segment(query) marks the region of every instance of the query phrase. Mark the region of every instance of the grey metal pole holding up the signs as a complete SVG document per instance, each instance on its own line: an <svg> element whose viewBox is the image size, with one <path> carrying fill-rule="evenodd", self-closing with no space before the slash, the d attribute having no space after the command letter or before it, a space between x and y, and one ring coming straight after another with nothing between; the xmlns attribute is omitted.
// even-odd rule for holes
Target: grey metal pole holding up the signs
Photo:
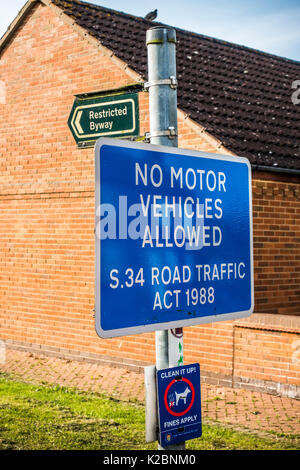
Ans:
<svg viewBox="0 0 300 470"><path fill-rule="evenodd" d="M177 79L176 32L174 29L155 27L147 31L150 133L148 141L155 145L178 146L177 132ZM183 362L181 334L173 330L156 332L156 369L167 369ZM175 331L175 330L174 330ZM163 449L159 445L159 449ZM170 449L171 446L168 446ZM172 446L185 449L185 443Z"/></svg>

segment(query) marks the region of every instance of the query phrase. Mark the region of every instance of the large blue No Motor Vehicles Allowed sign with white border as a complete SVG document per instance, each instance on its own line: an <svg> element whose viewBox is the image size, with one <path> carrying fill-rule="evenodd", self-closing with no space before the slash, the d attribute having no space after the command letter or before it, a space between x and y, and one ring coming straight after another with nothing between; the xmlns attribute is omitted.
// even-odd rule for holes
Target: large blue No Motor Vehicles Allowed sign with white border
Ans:
<svg viewBox="0 0 300 470"><path fill-rule="evenodd" d="M247 159L102 138L95 201L99 336L252 313Z"/></svg>

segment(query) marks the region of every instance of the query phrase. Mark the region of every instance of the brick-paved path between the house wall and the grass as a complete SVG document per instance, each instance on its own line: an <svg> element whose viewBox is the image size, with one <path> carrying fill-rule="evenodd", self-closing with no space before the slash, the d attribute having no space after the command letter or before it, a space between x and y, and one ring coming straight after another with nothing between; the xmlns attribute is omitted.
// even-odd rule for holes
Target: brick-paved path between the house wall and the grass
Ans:
<svg viewBox="0 0 300 470"><path fill-rule="evenodd" d="M0 372L31 383L51 383L144 401L144 375L124 368L69 361L8 349ZM203 422L218 422L258 434L300 437L300 400L202 384Z"/></svg>

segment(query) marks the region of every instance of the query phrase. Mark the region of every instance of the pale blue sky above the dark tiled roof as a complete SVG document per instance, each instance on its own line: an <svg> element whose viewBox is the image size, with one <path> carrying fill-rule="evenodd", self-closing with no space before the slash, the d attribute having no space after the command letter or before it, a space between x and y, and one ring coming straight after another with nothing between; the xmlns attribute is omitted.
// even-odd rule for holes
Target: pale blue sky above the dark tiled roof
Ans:
<svg viewBox="0 0 300 470"><path fill-rule="evenodd" d="M25 4L0 0L0 37ZM300 0L91 0L195 33L300 61Z"/></svg>

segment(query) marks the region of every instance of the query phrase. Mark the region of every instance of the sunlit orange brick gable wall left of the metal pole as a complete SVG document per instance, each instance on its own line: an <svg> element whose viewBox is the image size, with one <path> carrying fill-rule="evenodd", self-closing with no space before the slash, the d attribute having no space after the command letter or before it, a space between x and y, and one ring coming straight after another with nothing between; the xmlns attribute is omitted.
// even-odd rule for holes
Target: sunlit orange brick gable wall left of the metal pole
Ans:
<svg viewBox="0 0 300 470"><path fill-rule="evenodd" d="M101 341L94 330L94 151L67 126L75 94L133 79L42 5L0 64L1 338L141 359L140 337ZM144 133L148 95L139 100Z"/></svg>

